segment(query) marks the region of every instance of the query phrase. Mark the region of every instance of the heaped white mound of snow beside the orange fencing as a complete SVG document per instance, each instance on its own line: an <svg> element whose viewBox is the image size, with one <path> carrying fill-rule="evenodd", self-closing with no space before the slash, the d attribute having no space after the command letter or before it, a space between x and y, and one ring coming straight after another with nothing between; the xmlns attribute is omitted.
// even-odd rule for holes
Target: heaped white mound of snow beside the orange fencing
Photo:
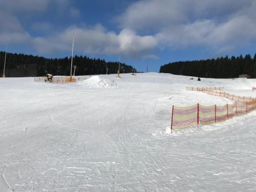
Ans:
<svg viewBox="0 0 256 192"><path fill-rule="evenodd" d="M90 88L116 88L117 84L114 81L105 79L98 75L92 76L89 79L78 82L80 85Z"/></svg>

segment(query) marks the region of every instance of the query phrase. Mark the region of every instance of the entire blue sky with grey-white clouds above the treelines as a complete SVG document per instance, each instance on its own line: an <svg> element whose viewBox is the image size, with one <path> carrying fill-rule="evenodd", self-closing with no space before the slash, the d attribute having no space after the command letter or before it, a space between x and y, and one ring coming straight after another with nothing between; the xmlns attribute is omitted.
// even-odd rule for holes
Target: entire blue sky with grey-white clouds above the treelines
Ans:
<svg viewBox="0 0 256 192"><path fill-rule="evenodd" d="M145 71L256 52L256 0L0 0L0 50L74 54Z"/></svg>

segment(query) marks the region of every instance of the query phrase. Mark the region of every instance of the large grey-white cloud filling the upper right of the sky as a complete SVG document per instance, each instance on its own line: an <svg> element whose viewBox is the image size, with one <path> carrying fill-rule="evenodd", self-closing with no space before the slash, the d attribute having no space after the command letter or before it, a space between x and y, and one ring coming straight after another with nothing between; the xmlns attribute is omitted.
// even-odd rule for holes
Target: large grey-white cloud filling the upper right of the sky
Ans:
<svg viewBox="0 0 256 192"><path fill-rule="evenodd" d="M159 47L231 51L256 41L256 1L141 0L118 17L121 27L149 31Z"/></svg>

